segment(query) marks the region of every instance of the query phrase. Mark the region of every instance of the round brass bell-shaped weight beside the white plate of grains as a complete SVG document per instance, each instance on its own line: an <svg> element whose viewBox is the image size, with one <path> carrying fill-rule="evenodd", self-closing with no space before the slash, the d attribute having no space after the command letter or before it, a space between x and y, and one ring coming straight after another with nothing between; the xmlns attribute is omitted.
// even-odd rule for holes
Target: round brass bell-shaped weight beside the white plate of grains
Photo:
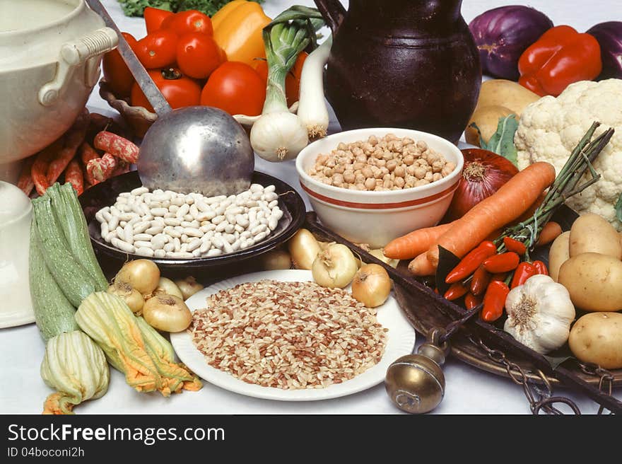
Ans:
<svg viewBox="0 0 622 464"><path fill-rule="evenodd" d="M417 354L396 359L387 369L385 388L399 409L423 414L437 407L445 395L445 376L440 366L445 363L449 344L438 340L443 330L430 331L428 341Z"/></svg>

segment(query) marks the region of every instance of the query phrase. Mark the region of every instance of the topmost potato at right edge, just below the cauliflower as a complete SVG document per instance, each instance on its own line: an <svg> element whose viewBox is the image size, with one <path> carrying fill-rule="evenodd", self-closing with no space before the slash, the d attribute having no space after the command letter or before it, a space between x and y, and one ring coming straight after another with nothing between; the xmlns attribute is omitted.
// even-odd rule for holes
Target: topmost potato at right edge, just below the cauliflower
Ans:
<svg viewBox="0 0 622 464"><path fill-rule="evenodd" d="M622 260L618 231L598 214L583 214L570 228L570 257L581 253L601 253Z"/></svg>

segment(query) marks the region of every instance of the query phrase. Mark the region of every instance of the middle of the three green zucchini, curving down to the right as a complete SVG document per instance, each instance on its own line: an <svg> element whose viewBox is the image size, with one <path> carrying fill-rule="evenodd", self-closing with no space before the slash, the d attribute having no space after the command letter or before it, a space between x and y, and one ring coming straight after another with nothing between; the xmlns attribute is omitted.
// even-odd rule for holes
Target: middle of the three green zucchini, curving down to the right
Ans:
<svg viewBox="0 0 622 464"><path fill-rule="evenodd" d="M80 262L71 254L61 230L49 196L33 199L37 242L40 245L47 269L54 277L64 295L74 307L83 299L100 289Z"/></svg>

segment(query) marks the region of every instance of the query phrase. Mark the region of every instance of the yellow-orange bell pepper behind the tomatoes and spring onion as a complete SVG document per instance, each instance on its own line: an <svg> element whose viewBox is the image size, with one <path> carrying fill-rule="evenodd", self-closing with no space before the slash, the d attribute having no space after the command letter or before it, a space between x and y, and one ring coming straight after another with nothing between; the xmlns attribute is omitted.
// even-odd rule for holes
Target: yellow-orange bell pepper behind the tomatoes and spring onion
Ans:
<svg viewBox="0 0 622 464"><path fill-rule="evenodd" d="M228 61L252 66L254 59L266 57L262 29L271 21L257 2L234 0L212 16L213 37Z"/></svg>

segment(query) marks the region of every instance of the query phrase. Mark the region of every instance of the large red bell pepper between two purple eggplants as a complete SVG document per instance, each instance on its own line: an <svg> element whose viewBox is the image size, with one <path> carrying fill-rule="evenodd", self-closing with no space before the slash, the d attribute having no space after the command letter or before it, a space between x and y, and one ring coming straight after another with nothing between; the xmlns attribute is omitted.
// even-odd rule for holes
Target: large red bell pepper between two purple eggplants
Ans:
<svg viewBox="0 0 622 464"><path fill-rule="evenodd" d="M541 96L557 96L571 83L592 81L600 74L600 45L592 35L558 25L527 47L518 70L523 87Z"/></svg>

